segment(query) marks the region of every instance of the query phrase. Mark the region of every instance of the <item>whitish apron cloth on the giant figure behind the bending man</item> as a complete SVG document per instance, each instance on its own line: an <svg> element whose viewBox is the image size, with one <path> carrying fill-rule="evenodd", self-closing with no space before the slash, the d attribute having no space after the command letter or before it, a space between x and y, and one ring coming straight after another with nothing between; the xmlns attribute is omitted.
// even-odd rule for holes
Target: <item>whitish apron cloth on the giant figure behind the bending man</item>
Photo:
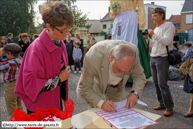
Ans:
<svg viewBox="0 0 193 129"><path fill-rule="evenodd" d="M112 40L124 40L138 45L138 19L134 10L117 14L113 22Z"/></svg>

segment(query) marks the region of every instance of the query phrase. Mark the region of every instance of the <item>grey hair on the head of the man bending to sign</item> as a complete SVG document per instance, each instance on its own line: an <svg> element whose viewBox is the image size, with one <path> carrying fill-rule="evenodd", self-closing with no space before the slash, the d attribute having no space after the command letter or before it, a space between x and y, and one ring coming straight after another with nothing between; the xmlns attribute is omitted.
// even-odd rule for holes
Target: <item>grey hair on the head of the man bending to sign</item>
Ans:
<svg viewBox="0 0 193 129"><path fill-rule="evenodd" d="M135 57L135 51L132 47L130 47L127 44L118 45L112 52L114 55L115 61L120 61L122 58L127 56L134 56Z"/></svg>

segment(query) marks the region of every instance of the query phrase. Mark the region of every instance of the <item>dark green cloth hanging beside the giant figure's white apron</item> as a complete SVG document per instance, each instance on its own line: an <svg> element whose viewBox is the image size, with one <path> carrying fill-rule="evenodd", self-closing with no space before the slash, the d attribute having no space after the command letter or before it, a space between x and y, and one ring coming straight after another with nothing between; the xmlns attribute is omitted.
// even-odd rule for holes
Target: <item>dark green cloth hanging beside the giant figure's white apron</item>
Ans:
<svg viewBox="0 0 193 129"><path fill-rule="evenodd" d="M147 43L142 33L138 29L138 50L139 50L139 59L140 64L144 69L144 74L146 78L151 77L151 68L150 68L150 53L147 53ZM128 82L133 82L132 77L128 79Z"/></svg>

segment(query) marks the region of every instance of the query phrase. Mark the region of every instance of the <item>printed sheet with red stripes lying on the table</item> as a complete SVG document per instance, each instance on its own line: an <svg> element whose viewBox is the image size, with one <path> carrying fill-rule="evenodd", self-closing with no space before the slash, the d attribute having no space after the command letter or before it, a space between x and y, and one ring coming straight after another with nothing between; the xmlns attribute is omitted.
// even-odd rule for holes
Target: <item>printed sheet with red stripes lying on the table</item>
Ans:
<svg viewBox="0 0 193 129"><path fill-rule="evenodd" d="M116 110L117 112L99 111L96 114L115 128L142 128L157 123L133 109L125 110L125 107L122 107Z"/></svg>

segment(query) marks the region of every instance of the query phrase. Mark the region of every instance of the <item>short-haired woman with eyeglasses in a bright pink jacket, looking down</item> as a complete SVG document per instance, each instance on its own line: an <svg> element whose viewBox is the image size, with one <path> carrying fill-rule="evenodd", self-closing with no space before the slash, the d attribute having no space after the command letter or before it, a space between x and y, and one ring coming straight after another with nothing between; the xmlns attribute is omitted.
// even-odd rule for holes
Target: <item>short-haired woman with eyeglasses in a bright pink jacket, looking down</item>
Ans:
<svg viewBox="0 0 193 129"><path fill-rule="evenodd" d="M41 6L46 25L23 57L15 93L23 100L27 113L36 108L55 107L62 110L68 99L68 56L63 41L73 24L71 10L59 1Z"/></svg>

